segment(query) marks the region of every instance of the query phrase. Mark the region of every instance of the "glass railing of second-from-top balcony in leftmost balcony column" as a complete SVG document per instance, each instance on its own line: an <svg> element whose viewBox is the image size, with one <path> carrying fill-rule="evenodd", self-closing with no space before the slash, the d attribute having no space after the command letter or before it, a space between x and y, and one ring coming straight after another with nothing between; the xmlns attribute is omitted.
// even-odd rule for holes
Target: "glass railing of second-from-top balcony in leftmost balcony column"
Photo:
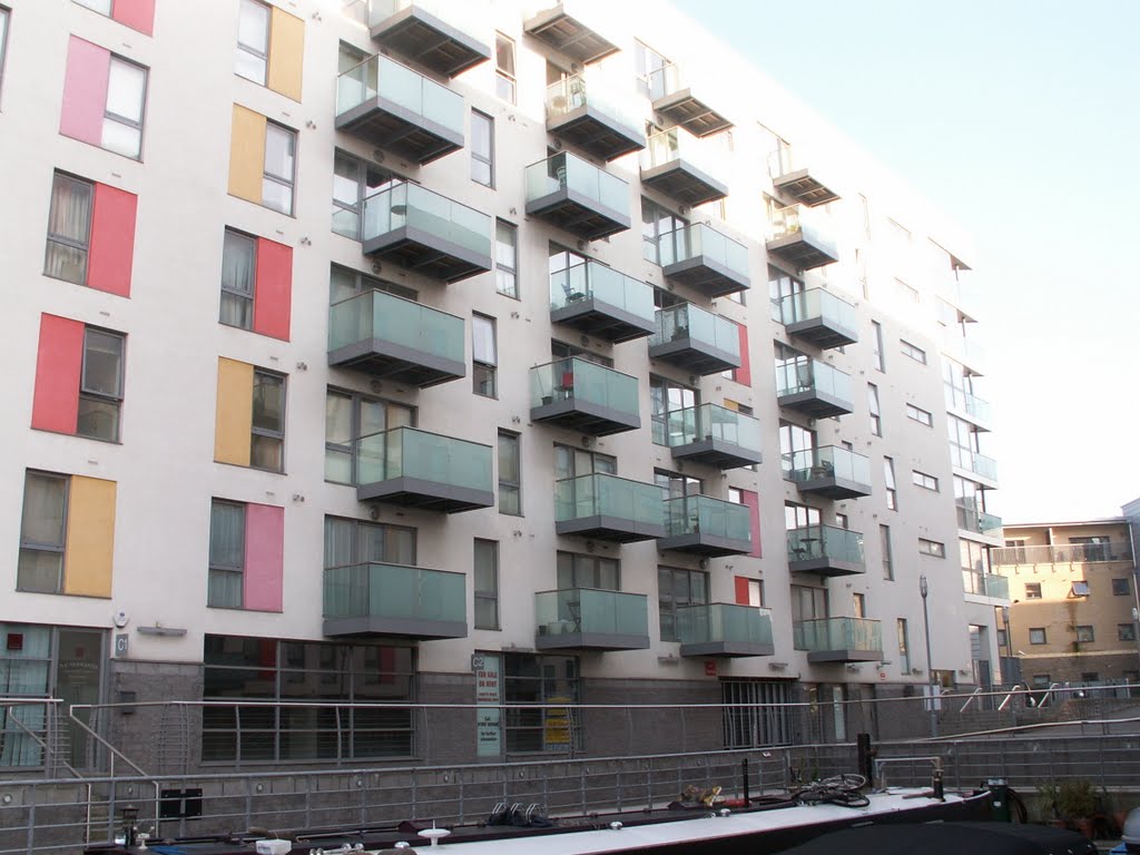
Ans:
<svg viewBox="0 0 1140 855"><path fill-rule="evenodd" d="M394 59L377 54L336 78L337 115L376 98L400 107L405 121L438 127L463 139L463 96Z"/></svg>

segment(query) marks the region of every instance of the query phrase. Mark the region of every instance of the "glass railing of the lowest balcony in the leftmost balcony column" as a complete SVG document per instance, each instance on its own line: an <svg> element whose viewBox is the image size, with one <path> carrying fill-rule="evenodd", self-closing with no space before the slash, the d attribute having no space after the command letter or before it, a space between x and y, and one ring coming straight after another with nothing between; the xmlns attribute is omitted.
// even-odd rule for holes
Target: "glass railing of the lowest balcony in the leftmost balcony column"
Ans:
<svg viewBox="0 0 1140 855"><path fill-rule="evenodd" d="M332 567L324 578L325 618L466 624L466 576L378 562Z"/></svg>

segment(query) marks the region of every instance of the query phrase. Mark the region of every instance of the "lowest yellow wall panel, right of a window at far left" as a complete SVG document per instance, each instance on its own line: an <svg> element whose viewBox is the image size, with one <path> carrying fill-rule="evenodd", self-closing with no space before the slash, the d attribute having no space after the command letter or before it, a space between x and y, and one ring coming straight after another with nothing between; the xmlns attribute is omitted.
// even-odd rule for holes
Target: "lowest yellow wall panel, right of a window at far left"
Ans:
<svg viewBox="0 0 1140 855"><path fill-rule="evenodd" d="M115 482L72 475L64 593L109 597L114 556Z"/></svg>

